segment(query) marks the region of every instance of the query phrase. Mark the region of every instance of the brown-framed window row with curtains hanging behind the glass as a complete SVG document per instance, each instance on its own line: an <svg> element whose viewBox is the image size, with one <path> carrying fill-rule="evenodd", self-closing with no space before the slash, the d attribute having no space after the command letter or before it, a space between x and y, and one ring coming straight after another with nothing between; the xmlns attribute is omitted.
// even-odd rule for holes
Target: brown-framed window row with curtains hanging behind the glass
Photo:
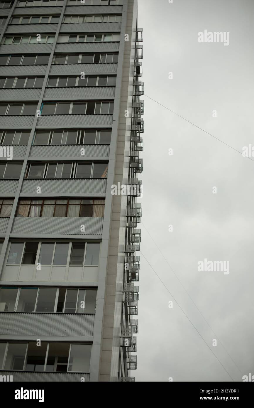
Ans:
<svg viewBox="0 0 254 408"><path fill-rule="evenodd" d="M9 217L13 200L1 202L0 217ZM104 205L105 200L20 200L16 217L103 217Z"/></svg>

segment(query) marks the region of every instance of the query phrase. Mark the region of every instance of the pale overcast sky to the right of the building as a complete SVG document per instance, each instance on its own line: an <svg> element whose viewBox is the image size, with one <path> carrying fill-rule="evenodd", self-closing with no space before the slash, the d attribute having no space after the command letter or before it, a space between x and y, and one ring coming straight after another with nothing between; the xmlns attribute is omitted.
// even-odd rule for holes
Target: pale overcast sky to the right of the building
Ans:
<svg viewBox="0 0 254 408"><path fill-rule="evenodd" d="M145 94L240 152L254 146L253 0L138 0L138 6ZM229 32L229 45L199 43L204 30ZM132 375L242 381L254 375L254 157L144 101L144 256ZM229 261L230 273L199 272L205 258Z"/></svg>

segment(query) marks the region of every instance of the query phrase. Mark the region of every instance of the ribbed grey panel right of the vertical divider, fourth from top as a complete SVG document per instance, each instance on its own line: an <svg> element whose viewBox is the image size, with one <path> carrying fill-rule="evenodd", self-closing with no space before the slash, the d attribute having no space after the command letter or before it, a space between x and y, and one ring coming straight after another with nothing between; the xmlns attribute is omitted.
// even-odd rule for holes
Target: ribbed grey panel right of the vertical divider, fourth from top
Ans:
<svg viewBox="0 0 254 408"><path fill-rule="evenodd" d="M0 67L2 75L2 67ZM89 74L115 74L117 73L117 64L55 64L51 65L50 74L71 74L80 75L84 72Z"/></svg>

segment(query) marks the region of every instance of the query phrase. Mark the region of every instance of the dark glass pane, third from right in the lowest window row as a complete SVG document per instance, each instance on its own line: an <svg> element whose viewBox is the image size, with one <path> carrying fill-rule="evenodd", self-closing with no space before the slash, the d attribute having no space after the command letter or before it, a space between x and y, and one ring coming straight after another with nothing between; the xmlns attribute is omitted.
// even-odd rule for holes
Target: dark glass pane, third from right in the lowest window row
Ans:
<svg viewBox="0 0 254 408"><path fill-rule="evenodd" d="M36 341L29 341L28 349L27 349L27 364L26 364L26 371L43 371L45 358L46 358L46 350L47 350L47 342L42 341L40 347L36 345Z"/></svg>

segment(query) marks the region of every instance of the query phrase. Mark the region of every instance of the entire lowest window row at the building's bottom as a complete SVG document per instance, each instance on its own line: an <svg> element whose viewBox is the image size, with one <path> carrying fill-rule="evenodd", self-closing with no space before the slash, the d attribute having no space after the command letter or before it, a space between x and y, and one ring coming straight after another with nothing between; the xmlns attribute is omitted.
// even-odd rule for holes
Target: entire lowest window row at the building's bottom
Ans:
<svg viewBox="0 0 254 408"><path fill-rule="evenodd" d="M67 341L42 341L40 347L36 341L0 341L0 370L85 373L89 371L91 349L89 343Z"/></svg>

